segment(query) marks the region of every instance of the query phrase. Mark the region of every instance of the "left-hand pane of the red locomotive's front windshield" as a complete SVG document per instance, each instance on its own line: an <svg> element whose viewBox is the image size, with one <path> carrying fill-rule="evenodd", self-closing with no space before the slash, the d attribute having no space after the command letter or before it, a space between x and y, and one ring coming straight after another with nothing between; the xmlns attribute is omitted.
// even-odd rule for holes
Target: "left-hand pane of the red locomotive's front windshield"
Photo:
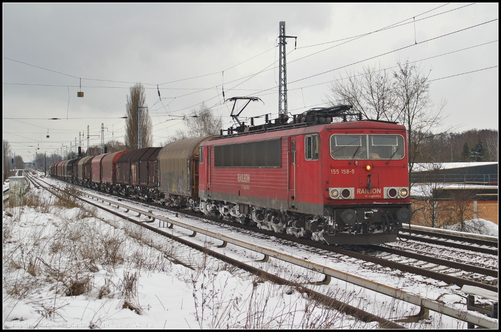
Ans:
<svg viewBox="0 0 501 332"><path fill-rule="evenodd" d="M331 157L333 159L367 159L367 136L332 135Z"/></svg>

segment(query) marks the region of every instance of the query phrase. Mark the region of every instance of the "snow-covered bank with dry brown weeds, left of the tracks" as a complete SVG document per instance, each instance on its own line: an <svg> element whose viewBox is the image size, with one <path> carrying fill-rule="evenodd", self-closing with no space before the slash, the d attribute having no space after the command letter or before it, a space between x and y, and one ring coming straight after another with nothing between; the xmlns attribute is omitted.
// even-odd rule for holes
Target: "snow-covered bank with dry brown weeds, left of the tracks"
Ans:
<svg viewBox="0 0 501 332"><path fill-rule="evenodd" d="M181 245L101 210L25 202L3 211L4 328L378 327L203 253L176 265Z"/></svg>

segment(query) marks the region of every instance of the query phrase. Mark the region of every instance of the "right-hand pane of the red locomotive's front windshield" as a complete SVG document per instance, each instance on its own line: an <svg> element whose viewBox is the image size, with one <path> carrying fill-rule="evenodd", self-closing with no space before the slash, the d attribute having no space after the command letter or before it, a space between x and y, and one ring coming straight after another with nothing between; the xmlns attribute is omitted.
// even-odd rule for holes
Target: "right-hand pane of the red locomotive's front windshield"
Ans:
<svg viewBox="0 0 501 332"><path fill-rule="evenodd" d="M370 159L402 159L404 138L400 135L369 135Z"/></svg>

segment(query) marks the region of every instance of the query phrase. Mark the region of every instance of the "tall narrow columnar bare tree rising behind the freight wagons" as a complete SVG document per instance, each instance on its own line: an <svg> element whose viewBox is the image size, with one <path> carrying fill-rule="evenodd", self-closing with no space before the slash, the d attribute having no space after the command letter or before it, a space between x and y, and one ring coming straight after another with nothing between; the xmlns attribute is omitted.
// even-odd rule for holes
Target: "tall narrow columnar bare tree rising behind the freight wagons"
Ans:
<svg viewBox="0 0 501 332"><path fill-rule="evenodd" d="M129 93L130 94L127 96L125 114L127 116L125 120L125 145L131 150L137 149L138 147L138 107L141 107L141 142L143 147L149 147L153 145L153 134L151 130L151 118L149 116L148 106L146 105L144 86L141 83L136 83L134 86L130 87Z"/></svg>

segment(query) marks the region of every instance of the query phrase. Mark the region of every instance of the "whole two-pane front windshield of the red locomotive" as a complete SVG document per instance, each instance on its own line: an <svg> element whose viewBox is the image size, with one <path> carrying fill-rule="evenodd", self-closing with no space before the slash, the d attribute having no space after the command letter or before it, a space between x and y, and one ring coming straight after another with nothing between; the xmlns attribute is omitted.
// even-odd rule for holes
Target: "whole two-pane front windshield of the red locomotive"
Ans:
<svg viewBox="0 0 501 332"><path fill-rule="evenodd" d="M333 159L401 159L404 153L401 135L331 136Z"/></svg>

